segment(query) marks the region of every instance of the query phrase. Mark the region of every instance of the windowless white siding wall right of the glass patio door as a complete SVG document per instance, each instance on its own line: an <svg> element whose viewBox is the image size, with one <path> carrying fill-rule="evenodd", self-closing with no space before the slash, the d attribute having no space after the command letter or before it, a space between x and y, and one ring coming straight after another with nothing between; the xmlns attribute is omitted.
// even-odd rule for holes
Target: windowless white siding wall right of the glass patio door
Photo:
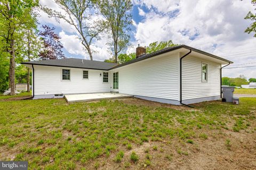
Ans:
<svg viewBox="0 0 256 170"><path fill-rule="evenodd" d="M121 94L178 100L178 62L178 53L164 54L110 70L111 87L118 72Z"/></svg>

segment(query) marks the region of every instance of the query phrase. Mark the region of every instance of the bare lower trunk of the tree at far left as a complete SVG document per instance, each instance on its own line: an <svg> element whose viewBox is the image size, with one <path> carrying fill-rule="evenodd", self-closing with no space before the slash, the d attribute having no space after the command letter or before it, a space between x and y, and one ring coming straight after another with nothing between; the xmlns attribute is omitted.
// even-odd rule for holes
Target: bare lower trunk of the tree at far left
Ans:
<svg viewBox="0 0 256 170"><path fill-rule="evenodd" d="M10 80L10 95L15 95L15 50L14 50L14 40L11 42L11 52L10 52L10 67L9 67L9 80Z"/></svg>

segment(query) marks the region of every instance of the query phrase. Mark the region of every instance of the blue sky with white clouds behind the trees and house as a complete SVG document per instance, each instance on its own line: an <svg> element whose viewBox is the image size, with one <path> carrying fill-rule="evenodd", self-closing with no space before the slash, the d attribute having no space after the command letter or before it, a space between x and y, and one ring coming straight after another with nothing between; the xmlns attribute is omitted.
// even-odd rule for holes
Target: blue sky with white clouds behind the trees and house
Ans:
<svg viewBox="0 0 256 170"><path fill-rule="evenodd" d="M154 41L172 40L175 44L186 44L206 52L234 61L229 67L256 64L256 38L244 33L250 21L244 20L248 11L253 11L251 1L210 0L133 0L130 36L133 47L127 53L135 52L137 44L147 46ZM58 6L52 0L42 0L55 10ZM61 37L63 52L67 57L89 59L76 31L64 21L58 23L41 12L41 24L55 27ZM95 41L92 48L94 60L109 58L106 35ZM256 67L242 67L223 70L223 75L247 78L256 77Z"/></svg>

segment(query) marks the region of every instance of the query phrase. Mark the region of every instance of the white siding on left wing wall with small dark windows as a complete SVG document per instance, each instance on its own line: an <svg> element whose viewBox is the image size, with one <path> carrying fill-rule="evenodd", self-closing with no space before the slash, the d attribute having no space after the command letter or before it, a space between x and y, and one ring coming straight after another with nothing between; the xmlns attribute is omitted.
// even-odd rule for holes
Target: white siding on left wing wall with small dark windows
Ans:
<svg viewBox="0 0 256 170"><path fill-rule="evenodd" d="M102 83L100 70L89 70L88 80L84 81L83 69L39 66L35 68L35 95L79 94L109 92L110 84ZM62 81L62 69L70 70L70 80Z"/></svg>

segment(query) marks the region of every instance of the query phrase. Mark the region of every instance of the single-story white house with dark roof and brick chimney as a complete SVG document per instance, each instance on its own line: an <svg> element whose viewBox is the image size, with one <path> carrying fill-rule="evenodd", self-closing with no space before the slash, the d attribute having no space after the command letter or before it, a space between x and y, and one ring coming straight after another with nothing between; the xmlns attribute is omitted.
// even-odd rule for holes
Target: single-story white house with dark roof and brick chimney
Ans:
<svg viewBox="0 0 256 170"><path fill-rule="evenodd" d="M174 105L221 98L222 65L233 63L202 50L178 45L124 64L65 58L23 62L33 70L33 97L119 92Z"/></svg>

